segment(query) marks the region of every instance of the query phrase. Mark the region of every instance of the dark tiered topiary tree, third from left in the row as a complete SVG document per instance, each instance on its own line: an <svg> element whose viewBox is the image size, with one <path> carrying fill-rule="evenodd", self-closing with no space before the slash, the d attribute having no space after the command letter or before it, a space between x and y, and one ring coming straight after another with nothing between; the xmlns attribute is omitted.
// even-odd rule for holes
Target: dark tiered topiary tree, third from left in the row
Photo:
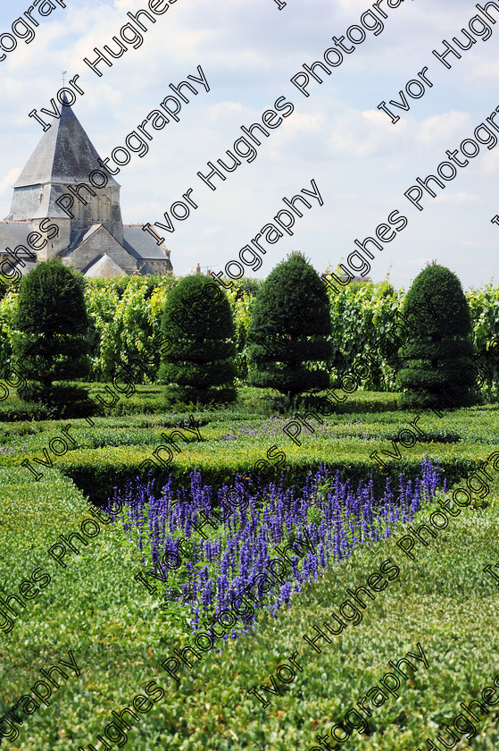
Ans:
<svg viewBox="0 0 499 751"><path fill-rule="evenodd" d="M319 274L300 253L271 272L258 291L248 330L248 380L294 399L326 389L329 373L316 363L331 355L329 303Z"/></svg>

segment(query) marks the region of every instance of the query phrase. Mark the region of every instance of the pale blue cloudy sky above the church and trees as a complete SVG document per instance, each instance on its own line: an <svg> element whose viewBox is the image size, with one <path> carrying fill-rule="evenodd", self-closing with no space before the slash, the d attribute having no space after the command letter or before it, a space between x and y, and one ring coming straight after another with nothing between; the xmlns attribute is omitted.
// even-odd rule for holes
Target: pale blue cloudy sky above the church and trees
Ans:
<svg viewBox="0 0 499 751"><path fill-rule="evenodd" d="M390 8L388 1L399 5ZM114 49L112 37L129 21L127 12L146 9L147 0L67 0L66 8L55 0L53 4L54 10L46 0L40 5L51 11L46 18L33 11L39 22L35 38L29 44L18 38L17 47L0 62L2 217L10 211L12 184L43 136L29 112L51 108L51 98L62 87L62 71L66 82L79 75L84 94L78 95L73 111L104 159L113 148L125 146L129 133L173 94L169 84L177 86L188 75L199 77L201 66L210 90L199 83L194 84L196 96L182 89L189 102L182 103L179 122L149 129L154 138L147 141L146 155L132 154L115 178L127 224L167 224L164 212L170 214L179 200L185 203L182 196L192 189L189 196L197 208L191 207L183 221L173 220L174 232L162 232L174 274L192 273L197 263L204 272L223 272L265 224L275 224L279 210L287 208L283 198L303 189L313 192L313 180L322 205L317 198L309 199L310 209L297 204L304 215L295 216L293 235L281 230L283 237L275 244L261 240L267 250L261 254L262 266L256 272L245 266L246 276L264 278L293 250L302 251L320 273L336 267L356 249L355 240L376 238L378 225L387 224L388 215L397 210L407 226L389 242L378 240L382 250L374 250L367 274L373 282L389 276L396 287L408 289L428 261L437 260L458 275L464 289L498 283L499 224L492 219L499 214L499 143L494 144L494 137L478 131L493 148L479 145L470 164L456 167L455 178L444 181L445 189L433 183L437 198L423 190L422 211L404 196L418 177L437 174L437 166L449 161L446 150L459 149L464 139L477 141L474 131L499 107L499 24L488 21L487 30L471 21L477 14L483 18L476 4L381 0L379 13L374 13L366 0L287 0L280 10L283 0L175 0L168 12L155 16L154 24L143 17L148 27L143 44L137 49L129 45L112 59L112 67L101 64L102 77L83 58L93 60L94 47ZM29 8L16 3L14 11L13 5L0 6L2 34L12 35L12 22ZM352 25L362 28L361 17L374 26L372 18L381 18L381 10L388 16L383 30L377 35L376 28L364 30L365 40L352 53L343 53L343 63L329 65L330 74L321 73L322 83L310 76L310 96L305 97L291 80L304 71L304 63L325 63L324 52L337 48L333 37L341 38ZM489 13L499 19L499 11ZM447 69L432 51L443 53L443 40L459 49L453 37L469 44L463 29L476 43L460 50L459 60L448 55L452 67ZM355 39L360 33L351 31ZM9 46L9 38L0 37L2 45ZM334 53L329 58L337 61ZM405 86L425 66L424 75L433 85L426 84L422 96L412 98ZM314 71L320 74L318 67ZM401 90L409 110L388 105L400 116L394 123L378 105L403 103ZM415 85L411 91L421 93ZM262 124L262 114L275 110L279 97L281 106L294 105L293 112L268 138L261 136L260 146L254 144L253 161L240 157L241 165L233 172L222 170L226 180L214 178L217 187L210 190L197 173L207 174L209 161L233 165L227 149L234 151L235 141L245 135L241 126ZM499 131L490 131L499 138Z"/></svg>

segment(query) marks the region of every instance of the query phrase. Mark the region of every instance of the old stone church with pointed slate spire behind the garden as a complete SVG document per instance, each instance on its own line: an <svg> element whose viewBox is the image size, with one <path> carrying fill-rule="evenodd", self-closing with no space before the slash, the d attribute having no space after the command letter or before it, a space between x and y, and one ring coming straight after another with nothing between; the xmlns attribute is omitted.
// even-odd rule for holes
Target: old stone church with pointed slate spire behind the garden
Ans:
<svg viewBox="0 0 499 751"><path fill-rule="evenodd" d="M104 188L91 188L88 176L98 159L71 106L62 106L15 182L10 215L0 222L0 278L20 277L54 257L89 277L172 271L164 243L158 245L143 224L123 224L120 185L112 175ZM81 183L96 195L79 189L86 205L74 198L64 211L57 199Z"/></svg>

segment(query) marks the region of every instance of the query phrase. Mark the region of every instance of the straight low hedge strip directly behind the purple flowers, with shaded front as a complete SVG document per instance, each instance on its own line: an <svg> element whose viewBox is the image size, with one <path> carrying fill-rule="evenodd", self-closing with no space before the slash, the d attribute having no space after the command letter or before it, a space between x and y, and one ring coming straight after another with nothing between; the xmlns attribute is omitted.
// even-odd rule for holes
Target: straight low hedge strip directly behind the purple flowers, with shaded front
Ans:
<svg viewBox="0 0 499 751"><path fill-rule="evenodd" d="M286 462L280 468L275 464L273 469L270 464L270 479L279 478L282 472L286 486L301 485L304 478L316 469L320 462L325 462L335 471L339 469L343 481L350 478L353 485L360 480L368 480L372 469L378 493L384 489L387 477L390 477L392 488L398 486L400 473L407 479L417 477L420 472L420 460L427 452L430 459L440 461L444 477L449 483L454 483L471 472L478 462L485 460L493 451L493 446L482 444L438 444L438 449L431 445L422 449L420 445L416 445L412 449L401 451L400 460L393 460L382 453L383 450L393 451L391 444L386 442L345 439L342 443L333 444L313 443L313 438L304 438L302 446L288 443L279 443L279 452L286 453ZM155 486L161 489L170 475L175 487L187 486L190 484L189 473L193 468L199 469L205 484L214 487L231 483L236 473L251 473L255 480L255 464L266 459L266 451L271 444L271 439L259 440L252 446L245 444L242 447L237 447L237 442L234 442L234 445L228 443L221 446L220 443L214 442L210 442L209 446L193 443L188 449L176 453L170 465L151 467ZM139 476L140 465L145 460L153 458L155 448L153 445L80 449L59 458L53 457L54 469L46 469L35 464L32 466L46 474L61 472L66 477L71 477L94 502L103 503L112 496L114 487L122 488ZM386 467L381 468L376 459L370 457L374 451L378 452L379 459L383 460ZM166 454L162 453L162 456L165 457ZM277 457L277 451L275 456ZM29 469L26 468L25 471L29 477ZM35 477L31 477L33 482L36 482ZM146 472L143 471L140 477L146 478Z"/></svg>

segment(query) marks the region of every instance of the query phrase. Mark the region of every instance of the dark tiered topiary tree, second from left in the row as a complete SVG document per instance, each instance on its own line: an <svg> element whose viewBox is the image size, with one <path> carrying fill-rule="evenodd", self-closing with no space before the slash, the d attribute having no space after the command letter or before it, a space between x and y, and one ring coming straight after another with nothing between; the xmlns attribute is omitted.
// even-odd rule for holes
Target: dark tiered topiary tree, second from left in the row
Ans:
<svg viewBox="0 0 499 751"><path fill-rule="evenodd" d="M234 321L218 284L201 274L182 279L168 295L161 331L173 342L158 371L170 384L170 398L202 404L236 399Z"/></svg>

